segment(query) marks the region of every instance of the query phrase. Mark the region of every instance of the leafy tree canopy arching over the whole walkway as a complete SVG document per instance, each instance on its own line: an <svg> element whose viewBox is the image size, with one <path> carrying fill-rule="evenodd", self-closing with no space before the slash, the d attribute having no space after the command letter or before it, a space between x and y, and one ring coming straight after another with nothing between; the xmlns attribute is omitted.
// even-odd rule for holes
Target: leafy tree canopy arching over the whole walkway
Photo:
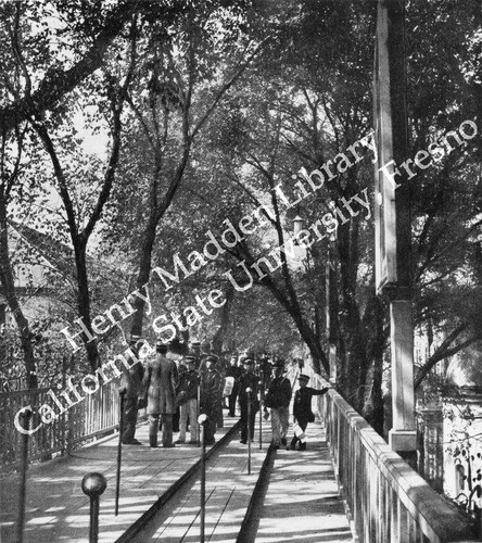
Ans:
<svg viewBox="0 0 482 543"><path fill-rule="evenodd" d="M83 319L83 370L174 323L221 351L305 345L327 372L331 269L339 387L377 419L390 333L373 277L376 16L355 0L2 5L0 278L28 375L13 222L72 252L71 274L50 269L66 305L45 341L68 349L59 330ZM410 154L466 121L478 132L411 182L415 321L433 339L417 386L481 339L481 23L477 0L406 1ZM214 290L225 303L200 314ZM135 291L128 318L96 333Z"/></svg>

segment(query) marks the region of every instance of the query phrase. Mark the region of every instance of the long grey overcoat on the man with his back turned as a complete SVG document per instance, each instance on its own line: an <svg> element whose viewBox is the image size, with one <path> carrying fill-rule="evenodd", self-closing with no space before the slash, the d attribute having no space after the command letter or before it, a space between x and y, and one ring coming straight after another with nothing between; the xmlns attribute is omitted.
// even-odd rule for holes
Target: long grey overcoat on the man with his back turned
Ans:
<svg viewBox="0 0 482 543"><path fill-rule="evenodd" d="M148 415L176 413L176 387L179 381L177 366L162 354L148 363L144 390L148 396Z"/></svg>

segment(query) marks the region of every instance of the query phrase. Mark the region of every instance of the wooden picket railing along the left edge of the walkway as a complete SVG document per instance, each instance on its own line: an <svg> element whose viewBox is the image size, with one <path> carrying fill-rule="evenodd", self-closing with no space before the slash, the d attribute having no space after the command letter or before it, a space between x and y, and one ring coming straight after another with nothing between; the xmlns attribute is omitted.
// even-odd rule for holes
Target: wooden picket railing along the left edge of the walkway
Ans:
<svg viewBox="0 0 482 543"><path fill-rule="evenodd" d="M118 425L118 383L111 381L87 395L77 404L59 415L51 424L41 424L36 414L30 428L41 427L28 440L28 460L50 458L52 454L65 453L76 443L113 431ZM14 469L20 463L22 434L15 428L15 415L30 405L36 412L49 405L55 414L60 408L48 394L49 389L24 390L0 393L0 466L2 470ZM62 402L65 404L65 402Z"/></svg>

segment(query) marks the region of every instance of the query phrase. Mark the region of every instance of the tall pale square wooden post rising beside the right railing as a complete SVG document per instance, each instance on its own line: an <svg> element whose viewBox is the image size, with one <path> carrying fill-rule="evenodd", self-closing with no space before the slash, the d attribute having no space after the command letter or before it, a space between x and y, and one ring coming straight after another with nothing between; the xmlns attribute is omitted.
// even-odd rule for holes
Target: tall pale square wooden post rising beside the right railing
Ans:
<svg viewBox="0 0 482 543"><path fill-rule="evenodd" d="M390 445L414 459L414 325L408 157L405 0L379 0L373 74L376 168L376 281L390 300L393 426Z"/></svg>

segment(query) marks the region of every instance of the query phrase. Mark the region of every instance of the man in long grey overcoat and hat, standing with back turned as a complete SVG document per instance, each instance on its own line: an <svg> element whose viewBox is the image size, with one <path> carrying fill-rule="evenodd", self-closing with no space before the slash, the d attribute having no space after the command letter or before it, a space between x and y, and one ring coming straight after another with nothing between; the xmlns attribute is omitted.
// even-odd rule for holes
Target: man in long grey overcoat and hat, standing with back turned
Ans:
<svg viewBox="0 0 482 543"><path fill-rule="evenodd" d="M178 371L176 359L179 354L173 345L156 343L156 356L148 363L144 375L144 390L148 395L149 444L157 446L158 418L163 430L163 446L175 446L173 443L173 415L176 412L176 387Z"/></svg>

